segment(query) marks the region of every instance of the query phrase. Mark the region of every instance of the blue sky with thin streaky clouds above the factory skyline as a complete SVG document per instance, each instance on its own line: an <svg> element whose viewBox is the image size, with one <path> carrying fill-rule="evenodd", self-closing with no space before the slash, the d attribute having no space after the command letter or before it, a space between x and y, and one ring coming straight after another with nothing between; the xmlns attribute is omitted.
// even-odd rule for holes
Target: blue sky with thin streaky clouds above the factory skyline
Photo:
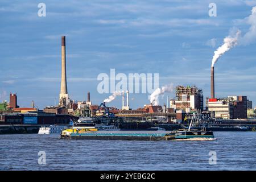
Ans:
<svg viewBox="0 0 256 182"><path fill-rule="evenodd" d="M208 14L209 3L217 16ZM38 16L38 4L46 16ZM250 28L256 1L102 0L0 2L0 101L17 93L20 107L39 109L59 100L61 36L66 36L67 84L72 100L93 104L111 94L97 90L100 73L159 73L159 86L196 85L210 96L214 51L233 28ZM256 105L256 40L226 52L215 65L215 95L247 96ZM150 93L130 94L133 109ZM175 90L160 97L175 97ZM122 105L121 97L108 106Z"/></svg>

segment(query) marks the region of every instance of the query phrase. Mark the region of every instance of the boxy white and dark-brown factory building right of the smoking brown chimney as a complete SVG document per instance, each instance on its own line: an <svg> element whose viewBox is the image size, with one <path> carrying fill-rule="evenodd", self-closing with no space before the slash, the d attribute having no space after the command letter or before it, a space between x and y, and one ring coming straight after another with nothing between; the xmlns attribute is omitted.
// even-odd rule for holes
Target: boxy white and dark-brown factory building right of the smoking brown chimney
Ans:
<svg viewBox="0 0 256 182"><path fill-rule="evenodd" d="M216 118L246 119L247 97L229 96L227 98L210 98L208 110L214 113Z"/></svg>

